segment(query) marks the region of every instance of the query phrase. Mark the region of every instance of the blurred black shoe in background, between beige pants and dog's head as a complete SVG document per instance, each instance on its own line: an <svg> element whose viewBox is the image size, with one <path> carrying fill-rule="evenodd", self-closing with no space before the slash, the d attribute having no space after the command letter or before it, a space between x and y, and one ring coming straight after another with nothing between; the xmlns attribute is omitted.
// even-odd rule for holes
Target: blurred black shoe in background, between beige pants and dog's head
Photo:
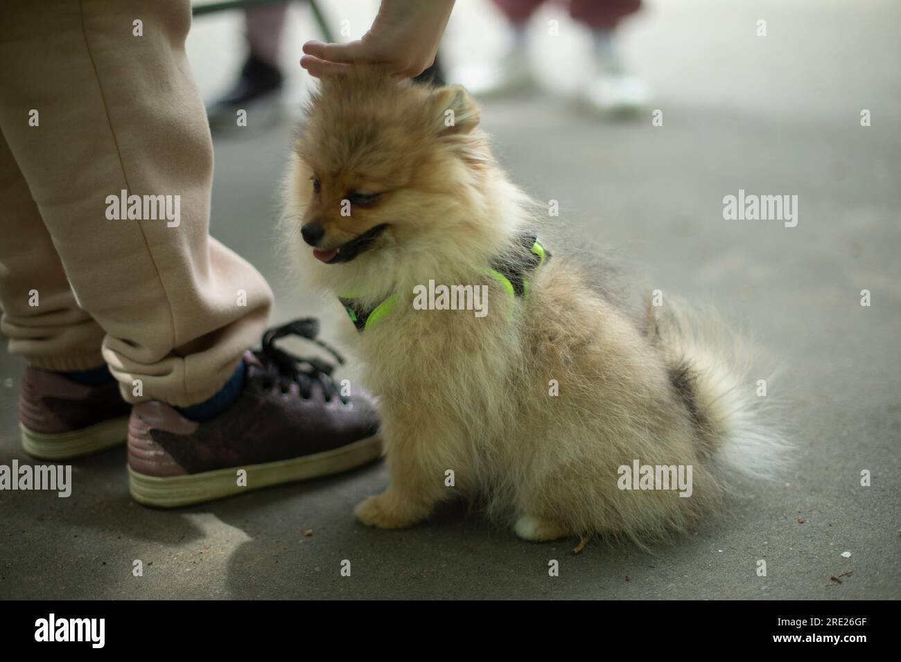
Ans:
<svg viewBox="0 0 901 662"><path fill-rule="evenodd" d="M250 122L257 123L255 121L260 114L265 116L265 121L260 123L268 123L271 120L271 106L281 92L282 82L278 67L251 52L232 89L207 110L210 126L220 129L238 126L239 110L247 111L248 125Z"/></svg>

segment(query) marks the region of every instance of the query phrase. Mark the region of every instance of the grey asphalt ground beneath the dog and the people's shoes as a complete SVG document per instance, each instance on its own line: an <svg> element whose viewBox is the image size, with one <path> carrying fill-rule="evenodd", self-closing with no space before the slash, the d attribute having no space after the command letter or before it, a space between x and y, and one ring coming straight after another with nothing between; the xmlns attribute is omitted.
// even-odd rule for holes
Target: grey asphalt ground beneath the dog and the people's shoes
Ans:
<svg viewBox="0 0 901 662"><path fill-rule="evenodd" d="M355 19L358 34L371 16L360 3L326 5L336 23ZM460 0L449 60L503 48L496 15L484 11ZM553 18L556 41L542 36ZM755 35L759 19L766 37ZM291 20L286 61L296 62L314 33L304 10ZM796 443L784 481L742 482L724 516L668 545L595 542L572 556L573 541L526 543L462 507L409 531L365 528L351 509L387 485L380 463L149 510L129 498L124 451L114 449L74 464L68 499L0 493L0 597L901 597L899 21L892 0L650 3L625 26L623 48L658 95L664 123L654 127L650 113L600 122L573 106L587 36L546 8L533 36L550 92L485 104L484 125L515 181L559 200L562 222L629 256L652 287L715 304L783 367L768 396L787 404ZM188 48L207 97L240 59L239 31L234 15L196 24ZM304 86L292 76L291 94ZM328 333L331 304L292 283L274 257L296 115L293 104L285 110L270 128L217 137L212 231L269 278L274 322L323 315ZM797 226L724 221L723 197L740 188L797 195ZM0 464L28 461L15 413L22 369L21 358L0 357ZM865 469L869 486L860 485ZM340 574L344 559L350 577ZM560 576L549 576L551 559ZM759 559L765 577L755 574Z"/></svg>

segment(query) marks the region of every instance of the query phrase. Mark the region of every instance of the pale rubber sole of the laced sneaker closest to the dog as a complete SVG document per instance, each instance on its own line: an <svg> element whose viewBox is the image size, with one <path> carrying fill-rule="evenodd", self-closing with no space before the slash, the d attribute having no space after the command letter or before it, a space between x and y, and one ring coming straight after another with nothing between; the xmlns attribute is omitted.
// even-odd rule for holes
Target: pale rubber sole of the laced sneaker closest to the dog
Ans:
<svg viewBox="0 0 901 662"><path fill-rule="evenodd" d="M338 474L377 459L382 452L376 437L301 458L278 460L249 467L228 467L186 476L147 476L128 467L128 491L132 498L157 508L177 508L204 503L235 494L245 494L272 485ZM247 471L238 485L238 470Z"/></svg>

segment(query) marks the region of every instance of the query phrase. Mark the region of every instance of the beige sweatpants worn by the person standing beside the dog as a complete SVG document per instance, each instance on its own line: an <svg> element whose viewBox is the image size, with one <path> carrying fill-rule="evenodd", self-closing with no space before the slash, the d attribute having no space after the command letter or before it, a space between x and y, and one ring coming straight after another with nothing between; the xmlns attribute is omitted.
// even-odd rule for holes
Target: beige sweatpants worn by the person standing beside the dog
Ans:
<svg viewBox="0 0 901 662"><path fill-rule="evenodd" d="M214 394L272 303L208 235L190 24L188 0L11 2L0 20L0 330L36 367L105 361L131 402Z"/></svg>

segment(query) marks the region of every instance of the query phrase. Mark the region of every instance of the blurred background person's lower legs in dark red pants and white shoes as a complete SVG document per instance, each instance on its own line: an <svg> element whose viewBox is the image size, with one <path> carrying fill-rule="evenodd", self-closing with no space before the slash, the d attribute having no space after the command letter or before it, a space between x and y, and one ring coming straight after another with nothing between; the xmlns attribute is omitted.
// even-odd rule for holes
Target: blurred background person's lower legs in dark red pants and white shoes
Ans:
<svg viewBox="0 0 901 662"><path fill-rule="evenodd" d="M511 47L496 62L460 68L455 82L473 95L512 95L536 85L529 62L527 27L545 0L492 0L513 32ZM641 111L651 101L651 90L623 66L614 45L617 26L634 14L642 0L569 0L569 15L592 32L590 74L579 89L579 101L601 114Z"/></svg>

